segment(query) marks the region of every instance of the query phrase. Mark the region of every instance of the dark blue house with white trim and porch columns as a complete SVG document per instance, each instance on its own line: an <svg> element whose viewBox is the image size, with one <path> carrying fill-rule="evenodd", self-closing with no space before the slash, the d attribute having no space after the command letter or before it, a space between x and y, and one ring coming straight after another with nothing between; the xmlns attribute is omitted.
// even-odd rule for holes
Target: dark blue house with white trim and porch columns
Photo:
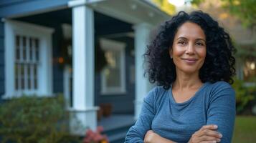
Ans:
<svg viewBox="0 0 256 143"><path fill-rule="evenodd" d="M0 18L1 99L63 93L67 109L91 129L138 117L152 86L143 77L148 35L169 19L151 1L4 0ZM119 120L98 122L100 104Z"/></svg>

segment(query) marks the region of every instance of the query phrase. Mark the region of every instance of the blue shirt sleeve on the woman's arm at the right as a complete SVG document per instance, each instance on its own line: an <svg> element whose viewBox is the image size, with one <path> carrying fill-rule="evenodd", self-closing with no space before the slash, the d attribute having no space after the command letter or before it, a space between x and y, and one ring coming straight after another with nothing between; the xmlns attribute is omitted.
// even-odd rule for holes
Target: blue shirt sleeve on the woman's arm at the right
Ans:
<svg viewBox="0 0 256 143"><path fill-rule="evenodd" d="M222 82L212 91L207 111L207 124L217 124L218 132L222 134L221 142L232 142L235 119L235 93L234 89Z"/></svg>

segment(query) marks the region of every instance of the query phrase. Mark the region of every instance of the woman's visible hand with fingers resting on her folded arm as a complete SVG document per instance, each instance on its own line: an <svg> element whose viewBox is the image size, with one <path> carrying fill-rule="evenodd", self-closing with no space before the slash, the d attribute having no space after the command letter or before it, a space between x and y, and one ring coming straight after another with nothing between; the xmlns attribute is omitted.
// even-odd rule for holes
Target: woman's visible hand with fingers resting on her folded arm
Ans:
<svg viewBox="0 0 256 143"><path fill-rule="evenodd" d="M220 142L222 134L217 132L217 125L205 125L199 131L192 134L189 143L214 143Z"/></svg>

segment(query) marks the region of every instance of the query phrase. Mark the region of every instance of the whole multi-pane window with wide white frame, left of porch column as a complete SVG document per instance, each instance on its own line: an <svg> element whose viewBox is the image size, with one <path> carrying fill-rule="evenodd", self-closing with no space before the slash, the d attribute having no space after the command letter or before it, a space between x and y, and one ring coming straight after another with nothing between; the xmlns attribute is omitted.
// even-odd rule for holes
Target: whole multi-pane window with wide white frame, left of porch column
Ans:
<svg viewBox="0 0 256 143"><path fill-rule="evenodd" d="M52 94L52 29L6 20L5 94Z"/></svg>

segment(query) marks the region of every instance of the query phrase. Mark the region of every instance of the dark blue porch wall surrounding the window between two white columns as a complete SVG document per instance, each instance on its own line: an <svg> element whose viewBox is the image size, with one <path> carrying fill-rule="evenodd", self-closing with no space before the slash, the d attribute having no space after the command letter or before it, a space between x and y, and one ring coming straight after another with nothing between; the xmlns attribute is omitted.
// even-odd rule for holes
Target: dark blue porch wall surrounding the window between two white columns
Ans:
<svg viewBox="0 0 256 143"><path fill-rule="evenodd" d="M135 99L135 81L133 80L131 67L134 67L135 59L133 56L134 41L132 38L114 39L125 42L125 94L100 94L100 73L95 74L95 105L112 104L113 113L133 114ZM133 68L134 69L134 68ZM134 74L133 74L134 75Z"/></svg>

